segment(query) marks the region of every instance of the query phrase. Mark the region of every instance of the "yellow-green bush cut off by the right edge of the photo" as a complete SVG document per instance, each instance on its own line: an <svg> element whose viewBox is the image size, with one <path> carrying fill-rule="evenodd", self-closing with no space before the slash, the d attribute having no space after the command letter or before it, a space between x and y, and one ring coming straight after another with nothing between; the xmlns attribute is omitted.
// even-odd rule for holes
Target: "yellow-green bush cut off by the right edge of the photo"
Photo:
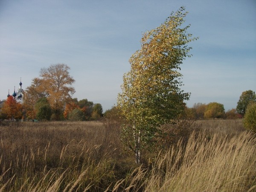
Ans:
<svg viewBox="0 0 256 192"><path fill-rule="evenodd" d="M247 106L243 123L245 128L256 132L256 102Z"/></svg>

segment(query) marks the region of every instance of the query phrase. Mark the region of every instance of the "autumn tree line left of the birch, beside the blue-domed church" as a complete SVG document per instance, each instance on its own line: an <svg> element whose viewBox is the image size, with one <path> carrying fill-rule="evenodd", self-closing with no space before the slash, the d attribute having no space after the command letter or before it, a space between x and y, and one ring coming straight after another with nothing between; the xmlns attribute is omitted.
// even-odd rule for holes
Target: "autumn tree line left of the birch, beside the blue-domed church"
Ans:
<svg viewBox="0 0 256 192"><path fill-rule="evenodd" d="M97 120L102 105L87 99L72 98L75 82L66 64L42 68L39 77L26 88L23 103L8 96L0 111L0 119Z"/></svg>

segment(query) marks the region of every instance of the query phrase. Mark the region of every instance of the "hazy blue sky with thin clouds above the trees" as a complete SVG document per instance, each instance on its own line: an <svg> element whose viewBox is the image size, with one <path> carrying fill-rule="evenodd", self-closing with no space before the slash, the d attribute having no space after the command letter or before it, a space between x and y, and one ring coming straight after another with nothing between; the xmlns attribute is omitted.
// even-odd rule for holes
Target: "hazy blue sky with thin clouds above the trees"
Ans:
<svg viewBox="0 0 256 192"><path fill-rule="evenodd" d="M76 80L73 98L116 104L129 58L144 32L185 6L197 41L180 65L187 106L236 108L256 91L255 0L0 0L0 100L31 85L41 68L64 63Z"/></svg>

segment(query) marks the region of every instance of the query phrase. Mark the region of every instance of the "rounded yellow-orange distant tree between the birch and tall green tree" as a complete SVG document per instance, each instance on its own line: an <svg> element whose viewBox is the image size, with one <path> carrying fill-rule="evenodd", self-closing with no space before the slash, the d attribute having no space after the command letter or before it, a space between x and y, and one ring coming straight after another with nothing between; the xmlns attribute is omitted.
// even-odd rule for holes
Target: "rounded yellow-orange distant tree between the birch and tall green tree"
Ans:
<svg viewBox="0 0 256 192"><path fill-rule="evenodd" d="M209 103L206 107L206 111L204 112L204 118L223 118L224 115L224 105L217 102Z"/></svg>

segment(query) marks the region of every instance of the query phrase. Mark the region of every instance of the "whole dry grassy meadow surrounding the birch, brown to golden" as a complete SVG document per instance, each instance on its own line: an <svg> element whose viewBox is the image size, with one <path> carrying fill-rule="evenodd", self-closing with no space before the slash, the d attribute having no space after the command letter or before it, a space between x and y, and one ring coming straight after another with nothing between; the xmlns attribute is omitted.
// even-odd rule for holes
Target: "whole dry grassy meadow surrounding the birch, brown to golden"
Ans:
<svg viewBox="0 0 256 192"><path fill-rule="evenodd" d="M0 122L0 192L256 191L256 136L241 119L192 126L137 165L116 121Z"/></svg>

